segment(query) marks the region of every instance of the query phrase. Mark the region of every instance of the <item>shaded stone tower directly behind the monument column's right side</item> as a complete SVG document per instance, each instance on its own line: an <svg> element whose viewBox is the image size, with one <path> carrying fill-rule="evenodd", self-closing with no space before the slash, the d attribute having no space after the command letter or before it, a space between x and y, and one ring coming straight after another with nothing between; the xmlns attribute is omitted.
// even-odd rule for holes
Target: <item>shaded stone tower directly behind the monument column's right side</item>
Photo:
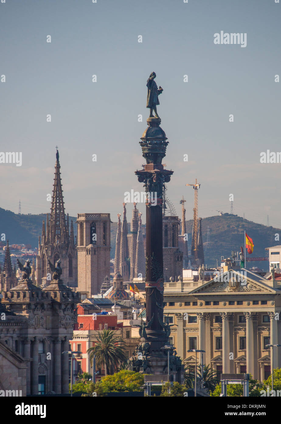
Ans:
<svg viewBox="0 0 281 424"><path fill-rule="evenodd" d="M177 216L163 217L163 271L164 280L183 276L183 252L178 248L178 229L180 221Z"/></svg>

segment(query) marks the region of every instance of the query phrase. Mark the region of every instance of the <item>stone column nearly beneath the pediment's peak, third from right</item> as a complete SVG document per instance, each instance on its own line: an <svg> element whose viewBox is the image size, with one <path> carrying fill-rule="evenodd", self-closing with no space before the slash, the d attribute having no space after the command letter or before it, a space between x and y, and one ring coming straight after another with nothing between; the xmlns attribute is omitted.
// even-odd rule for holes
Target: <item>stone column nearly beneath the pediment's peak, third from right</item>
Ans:
<svg viewBox="0 0 281 424"><path fill-rule="evenodd" d="M229 359L230 353L234 356L234 314L220 312L222 317L222 369L225 374L234 374L234 357Z"/></svg>

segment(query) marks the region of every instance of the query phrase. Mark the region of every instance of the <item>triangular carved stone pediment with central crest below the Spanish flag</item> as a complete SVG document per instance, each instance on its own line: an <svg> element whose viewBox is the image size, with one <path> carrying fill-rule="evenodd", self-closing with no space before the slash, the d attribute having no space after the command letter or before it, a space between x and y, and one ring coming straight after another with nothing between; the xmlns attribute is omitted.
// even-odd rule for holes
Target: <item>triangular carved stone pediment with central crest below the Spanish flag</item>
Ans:
<svg viewBox="0 0 281 424"><path fill-rule="evenodd" d="M252 273L251 271L228 270L217 275L212 280L200 287L191 290L189 294L203 293L277 293L267 285L267 280Z"/></svg>

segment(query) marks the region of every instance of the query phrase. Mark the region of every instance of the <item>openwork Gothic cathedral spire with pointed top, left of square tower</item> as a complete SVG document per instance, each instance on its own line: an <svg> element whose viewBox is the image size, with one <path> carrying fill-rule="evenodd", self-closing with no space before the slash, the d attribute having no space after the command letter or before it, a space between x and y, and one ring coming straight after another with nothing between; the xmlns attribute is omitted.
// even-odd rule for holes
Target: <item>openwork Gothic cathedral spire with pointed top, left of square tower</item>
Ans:
<svg viewBox="0 0 281 424"><path fill-rule="evenodd" d="M54 189L50 219L47 215L42 223L41 239L39 237L38 255L36 261L37 285L42 287L49 284L51 270L49 260L55 263L61 260L63 281L69 287L77 287L77 253L74 243L73 223L69 234L69 219L65 219L63 190L60 178L59 152L56 153Z"/></svg>

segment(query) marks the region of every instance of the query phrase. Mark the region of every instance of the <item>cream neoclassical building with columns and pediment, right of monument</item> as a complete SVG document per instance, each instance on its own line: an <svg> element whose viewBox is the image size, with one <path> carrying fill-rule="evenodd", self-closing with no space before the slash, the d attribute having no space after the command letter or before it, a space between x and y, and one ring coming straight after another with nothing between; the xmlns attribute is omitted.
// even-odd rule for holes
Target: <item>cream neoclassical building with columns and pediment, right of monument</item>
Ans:
<svg viewBox="0 0 281 424"><path fill-rule="evenodd" d="M265 346L281 343L281 282L266 276L226 266L208 282L164 283L170 341L184 364L195 364L188 349L202 349L203 362L219 372L270 375ZM273 368L281 367L281 348L273 349Z"/></svg>

